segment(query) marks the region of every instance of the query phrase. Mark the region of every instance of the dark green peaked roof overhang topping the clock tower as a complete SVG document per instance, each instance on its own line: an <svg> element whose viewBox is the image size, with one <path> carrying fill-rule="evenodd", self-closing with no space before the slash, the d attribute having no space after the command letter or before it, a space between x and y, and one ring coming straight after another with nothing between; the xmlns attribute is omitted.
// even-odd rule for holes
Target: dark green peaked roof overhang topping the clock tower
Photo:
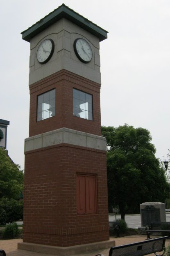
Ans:
<svg viewBox="0 0 170 256"><path fill-rule="evenodd" d="M39 34L45 28L48 28L50 25L61 18L67 18L73 23L79 25L79 27L84 28L88 32L91 32L93 35L100 39L100 42L104 39L107 39L108 32L106 30L100 28L93 22L89 21L87 18L84 18L82 15L70 9L68 6L62 4L53 12L50 12L47 16L29 27L27 30L21 32L23 35L23 40L30 42L32 37Z"/></svg>

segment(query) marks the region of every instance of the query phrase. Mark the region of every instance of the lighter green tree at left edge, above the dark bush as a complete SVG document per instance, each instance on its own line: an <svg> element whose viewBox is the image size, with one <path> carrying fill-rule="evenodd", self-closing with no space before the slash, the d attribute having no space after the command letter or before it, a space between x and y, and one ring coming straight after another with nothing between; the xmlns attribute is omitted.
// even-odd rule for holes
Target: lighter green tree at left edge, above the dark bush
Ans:
<svg viewBox="0 0 170 256"><path fill-rule="evenodd" d="M14 164L7 151L0 148L0 198L19 199L23 189L24 174Z"/></svg>

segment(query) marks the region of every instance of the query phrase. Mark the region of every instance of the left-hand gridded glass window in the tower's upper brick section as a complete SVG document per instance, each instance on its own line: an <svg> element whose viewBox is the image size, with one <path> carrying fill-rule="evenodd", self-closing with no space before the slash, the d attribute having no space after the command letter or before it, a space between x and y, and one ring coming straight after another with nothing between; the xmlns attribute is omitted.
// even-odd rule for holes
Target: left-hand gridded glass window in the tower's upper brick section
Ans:
<svg viewBox="0 0 170 256"><path fill-rule="evenodd" d="M51 118L55 115L55 89L45 92L37 98L37 121Z"/></svg>

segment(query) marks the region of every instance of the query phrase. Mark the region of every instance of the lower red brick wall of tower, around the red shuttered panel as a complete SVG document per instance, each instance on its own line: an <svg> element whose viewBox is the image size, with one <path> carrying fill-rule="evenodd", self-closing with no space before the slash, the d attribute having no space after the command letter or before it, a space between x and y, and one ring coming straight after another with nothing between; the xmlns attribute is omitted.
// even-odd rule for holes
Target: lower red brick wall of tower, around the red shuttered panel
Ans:
<svg viewBox="0 0 170 256"><path fill-rule="evenodd" d="M97 175L97 214L77 214L76 173ZM106 153L66 144L27 152L23 242L67 247L104 240L109 240Z"/></svg>

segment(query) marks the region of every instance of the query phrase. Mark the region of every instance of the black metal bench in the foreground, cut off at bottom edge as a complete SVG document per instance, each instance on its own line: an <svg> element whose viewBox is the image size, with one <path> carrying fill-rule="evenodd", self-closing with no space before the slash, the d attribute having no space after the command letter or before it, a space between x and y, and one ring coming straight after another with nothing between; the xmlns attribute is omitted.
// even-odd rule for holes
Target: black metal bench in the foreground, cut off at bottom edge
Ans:
<svg viewBox="0 0 170 256"><path fill-rule="evenodd" d="M165 252L165 240L168 236L154 238L133 244L124 244L111 247L109 256L144 256L154 253L156 256L162 256ZM96 256L104 256L97 254Z"/></svg>

